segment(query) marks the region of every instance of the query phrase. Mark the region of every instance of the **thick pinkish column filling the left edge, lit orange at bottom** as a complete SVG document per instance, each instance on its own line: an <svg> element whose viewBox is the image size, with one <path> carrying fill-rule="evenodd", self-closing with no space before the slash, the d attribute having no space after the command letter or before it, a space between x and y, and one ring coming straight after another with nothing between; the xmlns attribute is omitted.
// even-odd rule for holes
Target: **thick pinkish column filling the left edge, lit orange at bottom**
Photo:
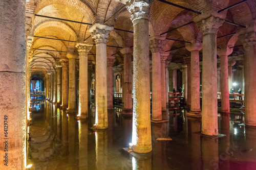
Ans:
<svg viewBox="0 0 256 170"><path fill-rule="evenodd" d="M24 70L26 65L26 1L1 1L0 4L0 127L2 130L0 166L1 169L25 169L27 142ZM5 126L8 126L8 130ZM8 145L8 151L4 151L6 145Z"/></svg>

